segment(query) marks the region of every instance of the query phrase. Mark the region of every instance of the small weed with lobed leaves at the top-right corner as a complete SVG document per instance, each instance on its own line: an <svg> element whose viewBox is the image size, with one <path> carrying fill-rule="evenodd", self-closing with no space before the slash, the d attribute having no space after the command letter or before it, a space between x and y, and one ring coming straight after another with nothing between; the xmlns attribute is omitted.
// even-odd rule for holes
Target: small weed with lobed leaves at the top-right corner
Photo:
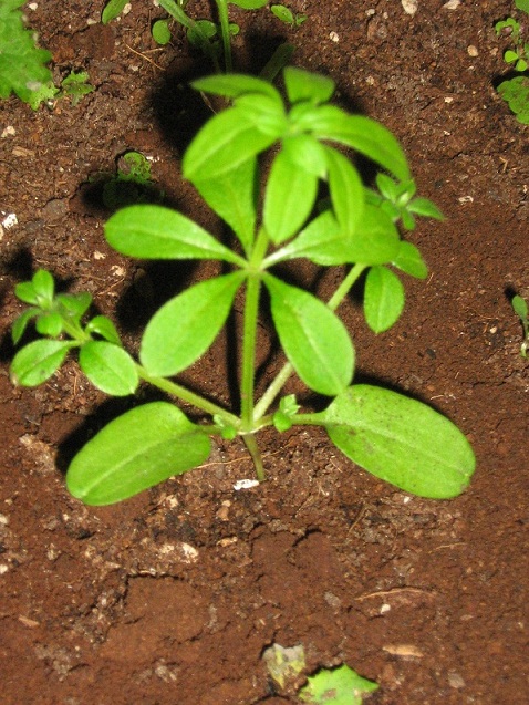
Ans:
<svg viewBox="0 0 529 705"><path fill-rule="evenodd" d="M518 74L498 85L498 93L507 101L510 110L520 123L529 124L529 41L527 41L527 21L529 20L529 0L515 0L518 10L527 13L523 22L512 17L495 24L498 37L509 37L512 46L504 53L505 62Z"/></svg>

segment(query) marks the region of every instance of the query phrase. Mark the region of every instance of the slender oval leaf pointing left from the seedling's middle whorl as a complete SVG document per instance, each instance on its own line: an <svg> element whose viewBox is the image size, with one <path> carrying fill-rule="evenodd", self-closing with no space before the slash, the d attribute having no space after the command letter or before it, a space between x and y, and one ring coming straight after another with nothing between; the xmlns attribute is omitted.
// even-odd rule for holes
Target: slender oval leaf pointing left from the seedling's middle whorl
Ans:
<svg viewBox="0 0 529 705"><path fill-rule="evenodd" d="M105 225L108 243L122 255L139 259L240 258L181 214L163 206L128 206Z"/></svg>

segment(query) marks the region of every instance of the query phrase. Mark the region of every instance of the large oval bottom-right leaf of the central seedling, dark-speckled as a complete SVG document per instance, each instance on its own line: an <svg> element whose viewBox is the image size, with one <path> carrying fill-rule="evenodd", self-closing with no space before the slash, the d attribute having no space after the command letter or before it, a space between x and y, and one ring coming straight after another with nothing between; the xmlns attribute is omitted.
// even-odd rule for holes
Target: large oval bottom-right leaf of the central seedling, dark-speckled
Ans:
<svg viewBox="0 0 529 705"><path fill-rule="evenodd" d="M473 449L457 426L395 392L355 385L318 417L356 465L419 497L456 497L474 473Z"/></svg>

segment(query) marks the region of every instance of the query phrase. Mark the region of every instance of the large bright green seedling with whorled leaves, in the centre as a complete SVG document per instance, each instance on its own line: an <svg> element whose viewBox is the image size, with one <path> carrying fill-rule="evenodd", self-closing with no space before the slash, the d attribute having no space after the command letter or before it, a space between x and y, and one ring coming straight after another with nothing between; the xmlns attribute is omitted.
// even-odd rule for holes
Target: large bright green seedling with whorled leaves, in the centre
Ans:
<svg viewBox="0 0 529 705"><path fill-rule="evenodd" d="M366 273L366 322L375 333L385 331L404 307L397 272L426 277L417 248L401 237L398 216L383 194L373 197L352 162L355 153L362 154L397 184L405 183L411 194L406 157L380 123L330 104L334 83L329 77L294 68L286 69L283 77L287 101L271 83L247 75L210 76L193 84L231 101L196 135L184 156L183 174L231 229L232 247L184 215L156 205L124 208L106 222L106 240L122 255L216 260L221 271L191 284L154 314L137 360L124 349L108 319L83 323L89 294L55 294L51 274L42 271L17 287L17 296L30 308L15 321L13 341L21 341L33 319L44 338L15 354L15 383L42 384L76 349L81 370L103 392L134 394L139 382L146 382L203 415L196 423L164 401L139 405L112 421L68 470L70 491L86 504L126 499L205 463L215 436L239 436L262 480L257 436L270 426L279 432L293 425L323 427L355 464L423 497L454 497L469 483L474 453L452 422L396 392L353 383L356 353L336 314ZM351 157L336 145L351 149ZM259 193L260 156L269 151L273 160ZM398 214L406 212L414 199L398 204ZM425 204L418 210L424 208ZM431 212L437 214L433 206ZM328 301L281 278L284 266L295 267L301 258L345 270ZM178 374L212 344L238 293L243 300L240 406L227 409L180 384ZM263 307L269 307L286 362L258 397L257 328ZM281 397L293 373L325 400L323 411L303 408L292 395Z"/></svg>

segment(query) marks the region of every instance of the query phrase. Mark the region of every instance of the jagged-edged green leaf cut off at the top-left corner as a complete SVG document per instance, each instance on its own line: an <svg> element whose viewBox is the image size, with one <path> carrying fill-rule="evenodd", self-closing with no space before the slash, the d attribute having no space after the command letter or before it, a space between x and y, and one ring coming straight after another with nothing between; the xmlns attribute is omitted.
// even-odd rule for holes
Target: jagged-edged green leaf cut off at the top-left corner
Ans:
<svg viewBox="0 0 529 705"><path fill-rule="evenodd" d="M0 2L0 99L13 92L37 110L58 91L46 66L51 53L35 45L34 33L25 28L18 9L22 4L22 0Z"/></svg>

